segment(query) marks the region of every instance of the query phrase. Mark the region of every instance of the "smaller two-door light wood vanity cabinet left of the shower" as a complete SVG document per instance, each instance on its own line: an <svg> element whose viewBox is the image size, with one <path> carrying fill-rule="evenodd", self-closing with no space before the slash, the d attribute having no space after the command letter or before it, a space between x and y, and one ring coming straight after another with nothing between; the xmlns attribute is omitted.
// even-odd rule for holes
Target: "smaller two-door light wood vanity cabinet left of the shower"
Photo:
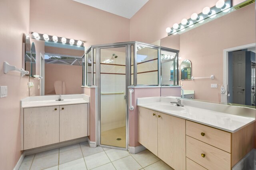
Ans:
<svg viewBox="0 0 256 170"><path fill-rule="evenodd" d="M21 116L22 150L87 136L87 104L23 108Z"/></svg>

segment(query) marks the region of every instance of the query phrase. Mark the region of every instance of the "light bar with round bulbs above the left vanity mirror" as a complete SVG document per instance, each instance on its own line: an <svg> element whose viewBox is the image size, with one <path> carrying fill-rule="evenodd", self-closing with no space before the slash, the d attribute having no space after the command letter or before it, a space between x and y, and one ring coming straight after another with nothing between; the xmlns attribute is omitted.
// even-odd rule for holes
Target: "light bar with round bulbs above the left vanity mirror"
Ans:
<svg viewBox="0 0 256 170"><path fill-rule="evenodd" d="M40 40L44 40L44 41L52 41L52 42L62 43L62 44L84 46L84 41L68 39L65 37L57 37L56 35L47 35L47 34L40 34L40 33L32 32L31 38L40 39Z"/></svg>

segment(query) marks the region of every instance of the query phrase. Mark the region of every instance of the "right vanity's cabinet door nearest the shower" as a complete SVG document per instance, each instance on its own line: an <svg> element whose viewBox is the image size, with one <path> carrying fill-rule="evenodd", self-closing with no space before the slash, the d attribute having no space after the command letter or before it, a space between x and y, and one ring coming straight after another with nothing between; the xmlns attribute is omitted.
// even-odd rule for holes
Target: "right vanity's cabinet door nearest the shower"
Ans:
<svg viewBox="0 0 256 170"><path fill-rule="evenodd" d="M157 112L140 107L138 142L157 156Z"/></svg>

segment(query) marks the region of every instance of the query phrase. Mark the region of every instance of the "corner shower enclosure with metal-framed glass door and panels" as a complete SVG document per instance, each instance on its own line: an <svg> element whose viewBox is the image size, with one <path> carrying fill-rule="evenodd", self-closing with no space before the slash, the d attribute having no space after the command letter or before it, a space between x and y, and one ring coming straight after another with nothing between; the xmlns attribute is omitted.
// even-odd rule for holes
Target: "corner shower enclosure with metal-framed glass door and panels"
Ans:
<svg viewBox="0 0 256 170"><path fill-rule="evenodd" d="M84 84L97 88L97 145L128 149L128 87L160 86L160 47L140 42L92 45Z"/></svg>

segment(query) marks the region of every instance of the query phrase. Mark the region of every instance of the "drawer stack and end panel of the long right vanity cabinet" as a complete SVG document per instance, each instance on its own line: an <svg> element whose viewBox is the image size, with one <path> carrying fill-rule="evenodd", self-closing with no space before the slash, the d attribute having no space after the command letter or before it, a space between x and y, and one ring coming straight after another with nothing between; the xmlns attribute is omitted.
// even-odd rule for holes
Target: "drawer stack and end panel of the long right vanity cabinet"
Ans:
<svg viewBox="0 0 256 170"><path fill-rule="evenodd" d="M191 161L208 170L230 170L253 149L253 128L252 123L229 133L186 120L187 170L197 170L189 167Z"/></svg>

